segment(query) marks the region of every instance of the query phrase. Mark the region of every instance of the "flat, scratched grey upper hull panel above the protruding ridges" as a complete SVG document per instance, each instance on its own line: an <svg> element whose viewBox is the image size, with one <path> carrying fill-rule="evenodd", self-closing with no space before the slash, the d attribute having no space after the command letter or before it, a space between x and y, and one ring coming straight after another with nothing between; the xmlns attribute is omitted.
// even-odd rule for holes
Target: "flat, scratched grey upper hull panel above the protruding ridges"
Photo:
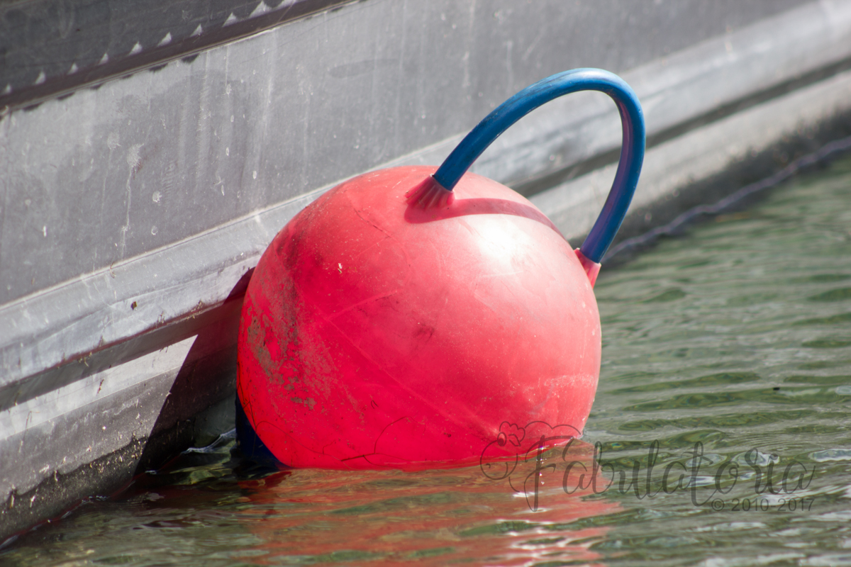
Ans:
<svg viewBox="0 0 851 567"><path fill-rule="evenodd" d="M12 111L0 304L463 133L553 72L625 71L799 3L370 0Z"/></svg>

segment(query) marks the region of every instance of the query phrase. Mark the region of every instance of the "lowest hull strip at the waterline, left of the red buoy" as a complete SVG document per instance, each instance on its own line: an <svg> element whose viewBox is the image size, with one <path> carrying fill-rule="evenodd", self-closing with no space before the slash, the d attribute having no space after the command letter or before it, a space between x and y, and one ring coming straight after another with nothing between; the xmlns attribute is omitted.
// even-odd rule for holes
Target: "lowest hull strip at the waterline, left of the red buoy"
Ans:
<svg viewBox="0 0 851 567"><path fill-rule="evenodd" d="M203 333L186 338L0 413L0 429L19 431L0 444L0 539L233 428L232 383L217 374L232 366L205 357L204 343ZM204 415L210 406L218 415Z"/></svg>

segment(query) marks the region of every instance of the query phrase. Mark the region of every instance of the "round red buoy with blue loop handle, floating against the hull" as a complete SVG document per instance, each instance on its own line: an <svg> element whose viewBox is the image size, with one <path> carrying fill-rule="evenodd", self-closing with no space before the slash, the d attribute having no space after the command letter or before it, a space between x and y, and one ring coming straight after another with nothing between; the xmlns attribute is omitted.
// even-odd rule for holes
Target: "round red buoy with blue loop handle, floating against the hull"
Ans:
<svg viewBox="0 0 851 567"><path fill-rule="evenodd" d="M585 89L615 100L624 144L574 252L523 196L465 172L521 116ZM437 171L395 167L329 190L278 233L248 284L237 395L250 428L280 462L323 468L510 455L494 444L506 423L578 434L600 368L592 286L643 148L631 89L606 71L566 71L500 105Z"/></svg>

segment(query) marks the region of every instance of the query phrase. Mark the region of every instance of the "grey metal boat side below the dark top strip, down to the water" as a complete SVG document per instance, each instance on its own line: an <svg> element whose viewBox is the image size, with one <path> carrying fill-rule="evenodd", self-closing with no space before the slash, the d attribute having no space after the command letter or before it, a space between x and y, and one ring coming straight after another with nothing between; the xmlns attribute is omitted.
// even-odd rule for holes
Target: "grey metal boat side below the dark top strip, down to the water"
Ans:
<svg viewBox="0 0 851 567"><path fill-rule="evenodd" d="M848 113L851 3L799 4L368 0L3 117L0 537L202 439L185 424L232 395L272 235L353 174L439 162L529 82L595 65L633 84L656 144L643 207ZM560 99L476 171L581 235L613 109Z"/></svg>

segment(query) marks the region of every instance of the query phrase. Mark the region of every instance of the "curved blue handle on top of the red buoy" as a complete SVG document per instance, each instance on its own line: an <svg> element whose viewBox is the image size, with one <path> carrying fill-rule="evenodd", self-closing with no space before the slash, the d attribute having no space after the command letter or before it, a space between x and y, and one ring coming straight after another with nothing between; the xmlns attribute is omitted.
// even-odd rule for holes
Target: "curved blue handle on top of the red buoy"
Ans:
<svg viewBox="0 0 851 567"><path fill-rule="evenodd" d="M488 114L461 140L437 169L434 179L444 188L452 190L472 162L511 124L552 99L584 90L600 91L612 97L618 105L624 130L618 173L614 176L612 189L603 205L603 212L580 247L585 258L599 263L624 221L644 161L645 131L641 104L630 86L617 75L602 69L574 69L557 73L524 88Z"/></svg>

